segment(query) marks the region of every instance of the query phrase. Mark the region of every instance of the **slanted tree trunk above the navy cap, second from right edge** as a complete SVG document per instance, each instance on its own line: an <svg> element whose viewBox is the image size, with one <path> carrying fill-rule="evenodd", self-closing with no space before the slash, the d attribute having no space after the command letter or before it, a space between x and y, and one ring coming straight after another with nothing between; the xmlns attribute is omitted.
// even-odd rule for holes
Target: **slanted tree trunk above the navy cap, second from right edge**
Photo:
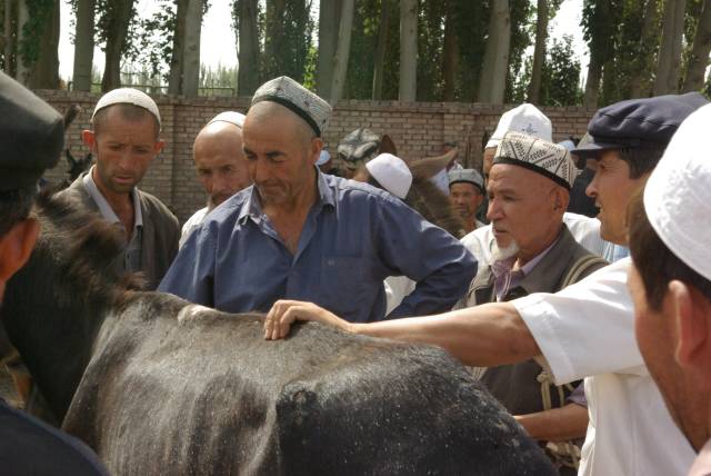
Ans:
<svg viewBox="0 0 711 476"><path fill-rule="evenodd" d="M685 3L685 0L667 0L662 23L662 44L657 61L654 96L669 95L679 89Z"/></svg>

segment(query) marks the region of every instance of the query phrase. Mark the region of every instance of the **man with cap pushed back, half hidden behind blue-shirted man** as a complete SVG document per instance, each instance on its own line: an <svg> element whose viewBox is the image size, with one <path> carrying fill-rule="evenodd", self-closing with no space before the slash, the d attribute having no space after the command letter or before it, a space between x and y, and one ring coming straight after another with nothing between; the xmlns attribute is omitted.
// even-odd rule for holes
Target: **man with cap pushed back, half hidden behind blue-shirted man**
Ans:
<svg viewBox="0 0 711 476"><path fill-rule="evenodd" d="M180 247L210 211L250 186L247 159L242 151L244 115L220 112L198 132L192 145L198 180L208 194L208 206L196 211L182 226Z"/></svg>

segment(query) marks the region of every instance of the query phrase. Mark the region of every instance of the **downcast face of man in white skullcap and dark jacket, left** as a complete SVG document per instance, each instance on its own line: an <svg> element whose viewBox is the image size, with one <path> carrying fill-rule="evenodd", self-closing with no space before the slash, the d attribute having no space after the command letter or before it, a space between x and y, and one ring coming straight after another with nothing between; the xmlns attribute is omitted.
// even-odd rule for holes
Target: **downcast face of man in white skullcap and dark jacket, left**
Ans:
<svg viewBox="0 0 711 476"><path fill-rule="evenodd" d="M98 133L84 131L82 137L97 158L97 186L104 194L123 195L143 178L163 142L156 139L150 115L127 120L116 108L109 108Z"/></svg>

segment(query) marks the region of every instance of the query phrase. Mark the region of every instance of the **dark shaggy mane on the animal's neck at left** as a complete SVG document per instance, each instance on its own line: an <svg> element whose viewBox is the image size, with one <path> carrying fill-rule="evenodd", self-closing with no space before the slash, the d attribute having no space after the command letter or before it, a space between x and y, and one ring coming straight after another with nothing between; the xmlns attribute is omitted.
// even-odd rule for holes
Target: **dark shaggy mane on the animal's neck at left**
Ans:
<svg viewBox="0 0 711 476"><path fill-rule="evenodd" d="M41 231L34 254L59 268L61 285L88 301L118 303L144 287L140 274L126 272L121 230L99 214L54 190L40 194L33 210ZM34 258L34 257L33 257Z"/></svg>

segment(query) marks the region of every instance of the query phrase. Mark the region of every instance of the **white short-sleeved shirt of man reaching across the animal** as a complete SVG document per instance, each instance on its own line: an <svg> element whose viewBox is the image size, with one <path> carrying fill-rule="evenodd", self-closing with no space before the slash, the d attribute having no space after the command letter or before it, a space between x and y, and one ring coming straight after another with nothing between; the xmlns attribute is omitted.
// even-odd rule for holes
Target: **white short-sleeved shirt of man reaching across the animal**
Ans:
<svg viewBox="0 0 711 476"><path fill-rule="evenodd" d="M585 377L590 424L579 475L685 475L694 452L677 428L634 338L630 259L512 304L562 385Z"/></svg>

